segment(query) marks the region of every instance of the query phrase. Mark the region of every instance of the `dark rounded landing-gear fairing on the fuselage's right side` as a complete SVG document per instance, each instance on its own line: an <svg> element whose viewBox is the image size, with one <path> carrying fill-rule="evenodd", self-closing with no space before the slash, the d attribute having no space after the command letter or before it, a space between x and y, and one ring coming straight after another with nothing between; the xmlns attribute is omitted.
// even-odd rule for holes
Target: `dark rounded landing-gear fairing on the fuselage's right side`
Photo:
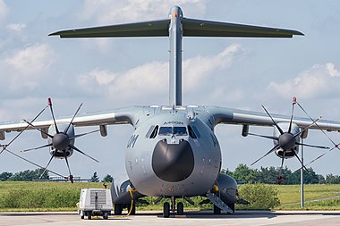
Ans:
<svg viewBox="0 0 340 226"><path fill-rule="evenodd" d="M237 182L231 176L219 173L217 177L217 195L232 209L238 201Z"/></svg>

